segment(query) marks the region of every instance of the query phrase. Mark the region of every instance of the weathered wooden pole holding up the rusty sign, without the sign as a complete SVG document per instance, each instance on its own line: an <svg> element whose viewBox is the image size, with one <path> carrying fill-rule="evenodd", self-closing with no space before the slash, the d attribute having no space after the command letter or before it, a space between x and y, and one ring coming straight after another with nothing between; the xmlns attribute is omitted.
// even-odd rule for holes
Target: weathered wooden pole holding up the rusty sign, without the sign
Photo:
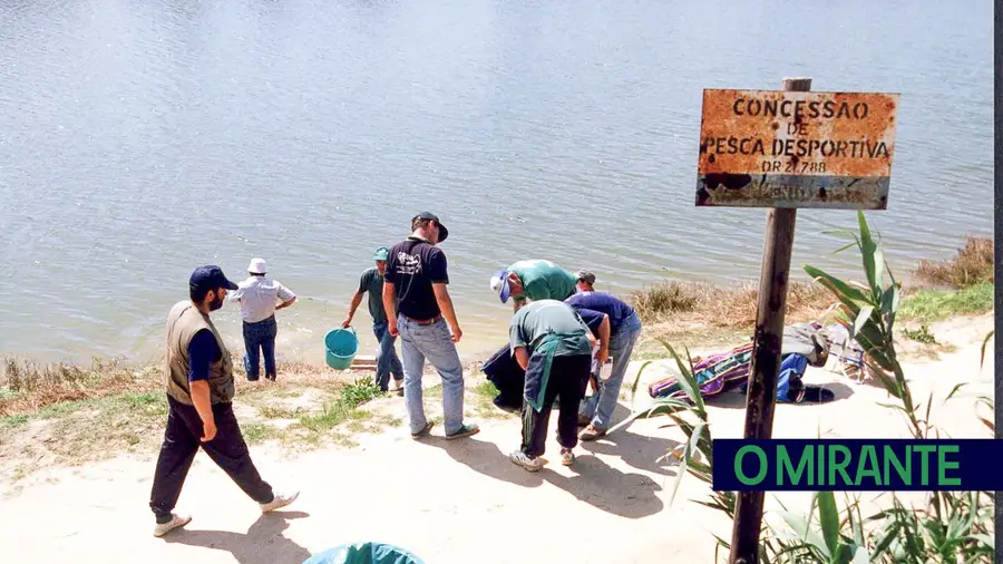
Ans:
<svg viewBox="0 0 1003 564"><path fill-rule="evenodd" d="M811 89L811 79L785 78L781 89L806 93ZM797 213L797 208L775 207L767 215L756 339L746 399L747 439L768 439L773 431L773 406L777 402L777 376L780 373L780 346L783 340L783 314L787 309L790 251L793 246ZM759 532L762 528L765 497L763 492L739 492L729 564L759 562Z"/></svg>

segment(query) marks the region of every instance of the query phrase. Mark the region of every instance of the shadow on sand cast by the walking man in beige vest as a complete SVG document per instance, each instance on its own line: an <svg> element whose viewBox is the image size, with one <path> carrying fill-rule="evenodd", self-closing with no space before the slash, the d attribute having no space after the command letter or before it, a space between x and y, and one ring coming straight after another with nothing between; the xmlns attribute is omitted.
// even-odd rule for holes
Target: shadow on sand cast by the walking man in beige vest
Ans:
<svg viewBox="0 0 1003 564"><path fill-rule="evenodd" d="M240 564L303 564L311 556L310 552L283 536L282 532L289 528L289 519L309 516L303 512L266 513L243 534L183 528L165 536L164 541L226 551Z"/></svg>

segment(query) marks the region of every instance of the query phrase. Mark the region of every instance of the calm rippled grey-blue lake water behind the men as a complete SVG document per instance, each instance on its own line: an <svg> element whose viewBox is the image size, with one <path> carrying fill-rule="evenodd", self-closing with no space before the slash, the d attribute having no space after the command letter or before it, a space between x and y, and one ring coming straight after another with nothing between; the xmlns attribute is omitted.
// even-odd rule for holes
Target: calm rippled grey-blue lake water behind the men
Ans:
<svg viewBox="0 0 1003 564"><path fill-rule="evenodd" d="M8 0L0 3L0 352L156 358L199 264L252 256L322 361L373 247L421 210L466 357L505 340L490 274L754 281L763 210L693 205L703 88L900 93L894 266L992 235L989 0ZM856 272L798 215L792 263ZM364 310L364 307L362 308ZM236 346L232 307L217 325ZM368 317L357 325L367 336ZM471 359L471 358L470 358Z"/></svg>

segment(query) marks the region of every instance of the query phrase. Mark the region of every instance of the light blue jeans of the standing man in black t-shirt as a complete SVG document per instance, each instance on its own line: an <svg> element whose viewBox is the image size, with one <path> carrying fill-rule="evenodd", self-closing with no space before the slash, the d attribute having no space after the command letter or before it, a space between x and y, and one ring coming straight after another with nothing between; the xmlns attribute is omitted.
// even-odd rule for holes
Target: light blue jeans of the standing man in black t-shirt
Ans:
<svg viewBox="0 0 1003 564"><path fill-rule="evenodd" d="M442 411L446 418L446 435L459 432L464 427L464 367L460 364L456 344L449 334L445 320L429 325L400 315L397 319L400 331L400 352L403 356L405 405L411 432L420 432L428 424L421 398L421 373L426 359L439 371L442 379Z"/></svg>

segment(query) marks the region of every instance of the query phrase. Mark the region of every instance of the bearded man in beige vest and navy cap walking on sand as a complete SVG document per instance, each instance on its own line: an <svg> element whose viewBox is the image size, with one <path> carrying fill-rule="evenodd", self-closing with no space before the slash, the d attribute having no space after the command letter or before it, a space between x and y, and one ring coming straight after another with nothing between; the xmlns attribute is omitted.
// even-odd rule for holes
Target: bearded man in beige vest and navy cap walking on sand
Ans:
<svg viewBox="0 0 1003 564"><path fill-rule="evenodd" d="M262 513L284 507L299 495L273 493L261 478L233 415L233 363L210 312L222 308L226 292L236 289L218 266L201 266L188 281L191 300L176 303L167 314L167 430L149 496L157 517L154 536L192 521L173 510L199 446Z"/></svg>

